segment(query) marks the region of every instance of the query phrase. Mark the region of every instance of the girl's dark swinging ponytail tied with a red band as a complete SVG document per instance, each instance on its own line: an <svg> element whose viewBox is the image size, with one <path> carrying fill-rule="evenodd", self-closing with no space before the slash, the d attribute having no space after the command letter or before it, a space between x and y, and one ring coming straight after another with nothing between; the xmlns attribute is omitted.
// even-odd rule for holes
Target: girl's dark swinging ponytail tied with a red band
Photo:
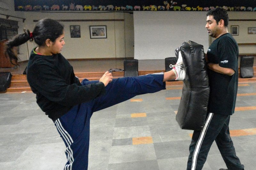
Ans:
<svg viewBox="0 0 256 170"><path fill-rule="evenodd" d="M11 63L16 66L18 65L18 57L13 52L13 47L20 46L21 44L24 44L28 40L33 41L33 34L30 33L29 30L25 28L23 29L23 31L24 31L23 34L18 34L5 43L6 44L5 56L6 57L9 56Z"/></svg>

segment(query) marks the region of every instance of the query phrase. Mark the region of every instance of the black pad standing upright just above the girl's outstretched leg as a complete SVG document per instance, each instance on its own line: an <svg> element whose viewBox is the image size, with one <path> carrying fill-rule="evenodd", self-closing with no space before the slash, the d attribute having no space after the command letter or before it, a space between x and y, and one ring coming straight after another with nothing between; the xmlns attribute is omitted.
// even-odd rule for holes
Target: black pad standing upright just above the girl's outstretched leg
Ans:
<svg viewBox="0 0 256 170"><path fill-rule="evenodd" d="M137 59L125 59L124 60L124 77L138 76L138 60Z"/></svg>

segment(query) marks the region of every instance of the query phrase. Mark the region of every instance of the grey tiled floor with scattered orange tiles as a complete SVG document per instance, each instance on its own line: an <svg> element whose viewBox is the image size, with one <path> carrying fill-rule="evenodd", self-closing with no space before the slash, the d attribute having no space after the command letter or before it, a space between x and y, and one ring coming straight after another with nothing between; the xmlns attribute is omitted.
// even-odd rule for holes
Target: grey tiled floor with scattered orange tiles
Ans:
<svg viewBox="0 0 256 170"><path fill-rule="evenodd" d="M123 60L70 63L75 72L123 68ZM161 67L159 67L161 66ZM23 72L22 64L18 72ZM158 68L158 69L157 69ZM164 70L164 60L141 61L139 70ZM16 70L16 69L13 69ZM1 70L0 70L1 71ZM182 85L136 96L91 118L89 170L184 170L192 131L175 120ZM239 83L230 132L246 170L256 167L256 82ZM36 104L35 94L0 94L0 169L60 170L66 163L65 145L51 119ZM225 168L216 144L204 170Z"/></svg>

